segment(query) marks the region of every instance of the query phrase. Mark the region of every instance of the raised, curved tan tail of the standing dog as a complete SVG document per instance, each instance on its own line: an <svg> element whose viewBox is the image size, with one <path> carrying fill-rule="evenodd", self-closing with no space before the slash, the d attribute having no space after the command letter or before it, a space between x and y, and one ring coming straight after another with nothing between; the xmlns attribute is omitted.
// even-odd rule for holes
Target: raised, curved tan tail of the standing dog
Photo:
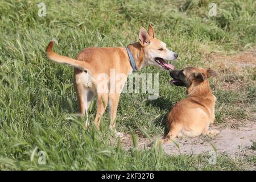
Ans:
<svg viewBox="0 0 256 182"><path fill-rule="evenodd" d="M70 57L61 56L61 55L53 52L52 51L53 43L57 43L55 39L52 39L51 42L49 42L49 44L46 48L46 55L47 55L49 60L52 60L55 63L68 64L68 65L71 65L72 67L80 68L82 70L89 69L88 68L89 64L86 64L85 61L75 60L75 59L72 59Z"/></svg>

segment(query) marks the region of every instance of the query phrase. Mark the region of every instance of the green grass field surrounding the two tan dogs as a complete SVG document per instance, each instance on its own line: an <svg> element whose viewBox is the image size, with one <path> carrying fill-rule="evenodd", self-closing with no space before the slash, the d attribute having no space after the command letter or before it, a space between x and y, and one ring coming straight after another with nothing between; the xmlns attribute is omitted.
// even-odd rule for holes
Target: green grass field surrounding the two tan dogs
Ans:
<svg viewBox="0 0 256 182"><path fill-rule="evenodd" d="M46 16L38 16L38 3ZM134 147L124 149L113 139L108 112L101 129L85 130L76 116L73 69L54 64L45 55L52 38L55 51L76 57L86 47L117 47L137 42L139 27L151 23L179 59L176 69L212 67L210 80L217 97L216 125L253 119L256 111L256 69L215 60L255 49L256 2L215 0L217 16L209 17L212 1L1 1L0 2L0 170L237 170L255 165L256 155L235 159L219 154L217 164L208 155L167 155L162 147L136 147L139 138L164 135L171 107L185 97L185 89L170 86L168 72L156 67L141 73L159 73L159 98L148 94L121 94L117 130L133 134ZM226 84L235 84L228 88ZM238 85L236 85L238 84ZM90 109L90 121L96 102ZM254 118L255 119L255 118ZM114 142L113 142L114 140ZM46 152L46 164L38 152Z"/></svg>

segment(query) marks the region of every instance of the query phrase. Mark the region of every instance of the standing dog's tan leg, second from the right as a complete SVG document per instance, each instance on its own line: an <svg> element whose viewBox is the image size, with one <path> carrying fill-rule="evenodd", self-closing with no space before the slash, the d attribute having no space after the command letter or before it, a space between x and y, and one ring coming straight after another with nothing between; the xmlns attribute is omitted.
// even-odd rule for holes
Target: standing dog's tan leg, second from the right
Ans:
<svg viewBox="0 0 256 182"><path fill-rule="evenodd" d="M97 114L94 119L94 123L98 129L100 129L101 117L104 114L107 105L108 105L108 94L107 93L97 94Z"/></svg>

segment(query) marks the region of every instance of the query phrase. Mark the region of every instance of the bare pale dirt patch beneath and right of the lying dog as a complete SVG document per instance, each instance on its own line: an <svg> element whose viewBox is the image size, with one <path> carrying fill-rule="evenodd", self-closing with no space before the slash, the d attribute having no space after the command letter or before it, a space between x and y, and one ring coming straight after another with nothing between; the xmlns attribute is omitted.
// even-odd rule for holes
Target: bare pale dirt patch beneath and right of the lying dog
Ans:
<svg viewBox="0 0 256 182"><path fill-rule="evenodd" d="M217 153L225 152L231 157L237 155L256 154L255 150L251 150L250 146L256 142L256 123L247 122L244 126L238 126L237 129L226 127L213 127L212 129L220 130L215 138L209 138L204 135L195 138L176 139L179 148L175 143L170 142L163 145L167 154L202 154L203 152L213 151L216 147Z"/></svg>

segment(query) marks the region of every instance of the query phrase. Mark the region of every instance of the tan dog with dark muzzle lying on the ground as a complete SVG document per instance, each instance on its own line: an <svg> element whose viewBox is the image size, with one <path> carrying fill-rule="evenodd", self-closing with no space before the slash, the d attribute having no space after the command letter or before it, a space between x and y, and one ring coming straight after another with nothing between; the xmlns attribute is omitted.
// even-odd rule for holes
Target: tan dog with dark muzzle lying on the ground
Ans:
<svg viewBox="0 0 256 182"><path fill-rule="evenodd" d="M210 136L220 133L209 130L214 122L214 105L216 97L210 90L207 78L216 76L212 69L188 67L181 71L170 71L174 80L170 84L187 87L187 98L177 102L167 118L170 131L161 143L173 140L175 137L195 137L201 134Z"/></svg>

